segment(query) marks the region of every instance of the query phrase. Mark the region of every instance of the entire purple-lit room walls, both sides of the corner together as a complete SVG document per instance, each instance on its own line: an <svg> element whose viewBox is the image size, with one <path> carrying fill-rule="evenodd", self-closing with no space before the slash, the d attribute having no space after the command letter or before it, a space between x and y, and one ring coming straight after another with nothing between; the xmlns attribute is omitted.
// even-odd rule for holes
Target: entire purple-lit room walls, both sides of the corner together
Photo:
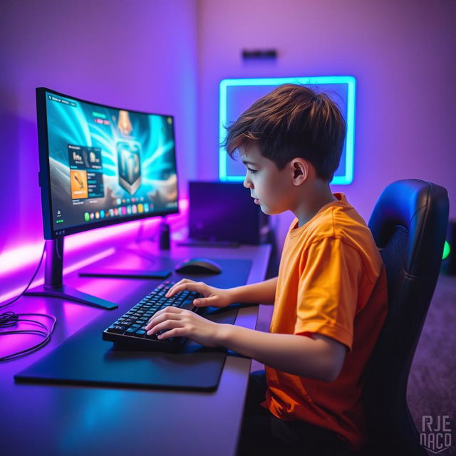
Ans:
<svg viewBox="0 0 456 456"><path fill-rule="evenodd" d="M366 219L397 179L437 182L451 200L455 16L450 0L2 1L0 274L19 247L33 247L33 265L42 243L36 86L175 114L185 195L187 179L218 176L222 78L353 75L355 178L333 191L346 192ZM279 58L244 63L242 48L257 47L277 48ZM291 218L274 217L279 243Z"/></svg>

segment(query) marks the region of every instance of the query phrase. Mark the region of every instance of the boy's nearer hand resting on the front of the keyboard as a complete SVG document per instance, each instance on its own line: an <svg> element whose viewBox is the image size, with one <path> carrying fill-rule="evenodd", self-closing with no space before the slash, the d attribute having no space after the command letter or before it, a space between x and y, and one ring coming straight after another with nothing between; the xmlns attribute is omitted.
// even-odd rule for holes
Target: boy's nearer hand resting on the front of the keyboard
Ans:
<svg viewBox="0 0 456 456"><path fill-rule="evenodd" d="M170 306L152 316L145 329L148 335L166 331L157 336L160 341L170 337L188 337L201 345L217 347L222 326L224 325L207 320L195 312Z"/></svg>

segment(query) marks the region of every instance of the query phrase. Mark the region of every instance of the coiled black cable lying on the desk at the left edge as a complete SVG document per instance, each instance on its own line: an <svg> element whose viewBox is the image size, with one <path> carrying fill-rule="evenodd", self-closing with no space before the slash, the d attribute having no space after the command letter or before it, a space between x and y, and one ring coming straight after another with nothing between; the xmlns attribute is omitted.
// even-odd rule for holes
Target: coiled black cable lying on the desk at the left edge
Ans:
<svg viewBox="0 0 456 456"><path fill-rule="evenodd" d="M52 321L51 328L46 326L41 321L30 320L28 318L19 318L21 316L44 316L46 318L50 318ZM14 331L0 331L0 336L11 336L12 334L34 334L36 336L43 336L44 340L40 343L37 343L34 346L26 348L25 350L18 351L16 353L12 353L11 355L6 355L0 358L0 362L2 361L10 361L11 359L20 358L21 356L26 356L28 353L33 353L33 351L37 351L43 346L46 345L51 340L51 335L54 330L54 326L56 326L57 319L53 315L47 314L14 314L14 312L5 312L4 314L0 314L0 328L10 328L11 326L17 325L21 321L28 321L29 323L36 324L41 326L45 329L45 331L41 331L39 329L16 329Z"/></svg>

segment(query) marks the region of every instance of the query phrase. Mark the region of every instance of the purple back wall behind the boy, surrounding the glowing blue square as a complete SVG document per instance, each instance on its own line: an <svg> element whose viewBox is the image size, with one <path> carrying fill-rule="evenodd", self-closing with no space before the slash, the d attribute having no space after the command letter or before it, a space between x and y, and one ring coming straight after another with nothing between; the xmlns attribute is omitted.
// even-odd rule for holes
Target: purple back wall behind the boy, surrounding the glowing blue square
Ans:
<svg viewBox="0 0 456 456"><path fill-rule="evenodd" d="M455 17L450 0L199 0L199 177L218 175L220 80L351 75L355 174L333 192L367 222L388 183L430 180L447 188L456 218ZM244 63L243 48L276 48L279 58ZM281 245L293 216L273 218Z"/></svg>

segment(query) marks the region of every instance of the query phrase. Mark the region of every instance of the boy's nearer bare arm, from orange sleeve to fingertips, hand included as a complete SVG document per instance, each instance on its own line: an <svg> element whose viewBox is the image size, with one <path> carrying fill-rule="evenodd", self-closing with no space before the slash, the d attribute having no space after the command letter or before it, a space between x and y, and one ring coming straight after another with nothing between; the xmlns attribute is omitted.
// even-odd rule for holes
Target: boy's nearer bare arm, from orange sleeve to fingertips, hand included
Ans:
<svg viewBox="0 0 456 456"><path fill-rule="evenodd" d="M255 285L259 284L250 287L254 289ZM343 343L321 333L306 333L309 337L304 333L263 333L214 323L193 311L172 306L157 311L146 331L148 335L165 331L157 336L160 340L184 336L204 346L223 346L279 371L328 382L337 378L346 353Z"/></svg>

